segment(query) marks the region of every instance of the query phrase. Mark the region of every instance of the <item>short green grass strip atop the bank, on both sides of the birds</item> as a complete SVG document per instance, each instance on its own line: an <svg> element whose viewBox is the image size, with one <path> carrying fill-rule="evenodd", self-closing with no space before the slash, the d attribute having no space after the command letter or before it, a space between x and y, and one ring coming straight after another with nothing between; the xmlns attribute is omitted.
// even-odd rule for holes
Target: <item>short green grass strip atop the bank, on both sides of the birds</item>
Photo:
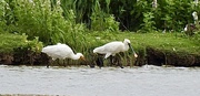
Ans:
<svg viewBox="0 0 200 96"><path fill-rule="evenodd" d="M186 38L181 33L132 33L132 32L89 32L77 36L76 42L68 42L76 52L88 52L97 46L103 45L111 41L123 41L130 39L131 44L136 51L146 49L148 46L172 51L184 52L191 54L200 54L200 45L198 41ZM0 34L0 52L12 52L16 47L27 47L27 45L36 46L39 41L27 40L27 35L19 34ZM41 43L41 42L40 42ZM78 45L77 45L78 43ZM42 47L42 45L40 45ZM88 51L87 51L88 50ZM86 53L87 54L87 53Z"/></svg>

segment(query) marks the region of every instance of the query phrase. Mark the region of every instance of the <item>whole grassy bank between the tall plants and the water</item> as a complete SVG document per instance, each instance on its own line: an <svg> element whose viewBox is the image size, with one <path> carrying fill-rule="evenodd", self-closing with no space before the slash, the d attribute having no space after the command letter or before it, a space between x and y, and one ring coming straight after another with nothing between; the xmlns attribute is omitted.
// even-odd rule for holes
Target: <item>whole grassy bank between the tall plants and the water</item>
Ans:
<svg viewBox="0 0 200 96"><path fill-rule="evenodd" d="M37 52L40 54L42 46L46 46L46 45L42 45L42 43L39 42L38 39L28 41L27 35L0 34L0 39L2 41L0 43L0 47L1 47L0 52L3 54L4 53L11 54L11 56L13 56L13 54L16 54L17 52L24 53L27 51ZM124 54L120 55L121 62L124 66L142 65L147 63L148 61L147 57L149 57L149 60L152 60L152 57L156 57L156 56L158 57L152 60L154 62L151 62L151 63L156 63L156 64L157 63L163 63L163 64L171 63L172 65L176 65L173 64L173 62L171 62L173 60L170 60L170 57L180 56L180 58L183 57L183 60L187 60L191 55L194 55L196 57L194 60L199 61L198 60L200 55L199 41L196 38L187 38L182 33L87 32L86 34L76 36L76 39L69 41L68 44L74 50L74 52L83 53L87 60L89 61L89 63L93 63L92 50L94 47L100 46L111 41L123 41L123 39L130 39L134 51L139 54L138 58L133 57L133 55L131 54L131 51L126 52ZM149 47L153 50L152 51L147 50ZM149 52L152 54L150 55ZM32 54L32 53L24 53L24 54ZM24 54L18 54L18 56L20 55L22 56ZM162 57L162 55L164 56ZM3 56L1 55L1 60L2 57ZM31 57L34 57L34 56L31 56ZM32 61L33 58L31 57L28 57L28 60ZM40 60L48 61L46 57L44 58L42 58L42 56L40 57L41 57ZM190 64L190 60L192 64L199 63L199 62L193 62L194 60L192 60L192 57L190 57L189 61L187 61L186 63ZM24 61L28 61L28 60L24 60ZM159 62L160 60L162 61ZM80 61L70 61L70 64L79 65L82 63ZM108 61L106 61L106 64L108 64Z"/></svg>

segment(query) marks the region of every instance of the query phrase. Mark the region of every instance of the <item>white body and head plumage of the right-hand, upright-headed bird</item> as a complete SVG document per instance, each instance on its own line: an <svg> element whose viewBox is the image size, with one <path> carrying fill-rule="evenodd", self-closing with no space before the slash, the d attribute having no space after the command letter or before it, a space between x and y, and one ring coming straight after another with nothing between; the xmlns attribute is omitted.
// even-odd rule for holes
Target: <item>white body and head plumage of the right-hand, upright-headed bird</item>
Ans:
<svg viewBox="0 0 200 96"><path fill-rule="evenodd" d="M109 57L110 55L116 55L119 52L124 52L129 50L130 40L124 39L123 42L114 41L107 43L102 46L96 47L93 53L106 54L104 58Z"/></svg>

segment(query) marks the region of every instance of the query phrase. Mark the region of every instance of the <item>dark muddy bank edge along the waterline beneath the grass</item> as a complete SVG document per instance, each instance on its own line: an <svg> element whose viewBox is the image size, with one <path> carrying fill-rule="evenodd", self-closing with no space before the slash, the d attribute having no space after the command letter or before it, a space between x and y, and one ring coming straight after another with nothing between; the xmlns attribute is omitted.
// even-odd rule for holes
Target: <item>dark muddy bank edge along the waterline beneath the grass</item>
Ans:
<svg viewBox="0 0 200 96"><path fill-rule="evenodd" d="M200 66L200 54L187 54L181 52L160 51L152 47L147 47L138 51L138 58L133 56L126 57L123 65L142 66L150 65L172 65L172 66ZM122 55L124 56L124 55ZM118 57L119 58L119 57ZM51 63L51 58L43 53L34 53L32 51L16 50L12 54L0 53L0 64L6 65L47 65ZM93 64L93 60L88 62L77 62L70 60L70 65L89 65ZM124 62L124 61L121 61ZM132 64L131 64L132 63Z"/></svg>

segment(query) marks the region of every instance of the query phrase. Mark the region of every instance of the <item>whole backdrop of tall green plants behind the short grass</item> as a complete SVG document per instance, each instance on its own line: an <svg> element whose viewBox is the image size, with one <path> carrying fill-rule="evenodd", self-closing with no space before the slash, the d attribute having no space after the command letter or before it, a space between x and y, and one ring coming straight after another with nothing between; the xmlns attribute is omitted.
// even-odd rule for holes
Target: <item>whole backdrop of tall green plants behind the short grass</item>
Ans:
<svg viewBox="0 0 200 96"><path fill-rule="evenodd" d="M76 24L93 31L181 31L193 22L193 11L200 13L199 3L191 0L159 0L158 8L152 0L1 0L0 4L1 30L51 43Z"/></svg>

